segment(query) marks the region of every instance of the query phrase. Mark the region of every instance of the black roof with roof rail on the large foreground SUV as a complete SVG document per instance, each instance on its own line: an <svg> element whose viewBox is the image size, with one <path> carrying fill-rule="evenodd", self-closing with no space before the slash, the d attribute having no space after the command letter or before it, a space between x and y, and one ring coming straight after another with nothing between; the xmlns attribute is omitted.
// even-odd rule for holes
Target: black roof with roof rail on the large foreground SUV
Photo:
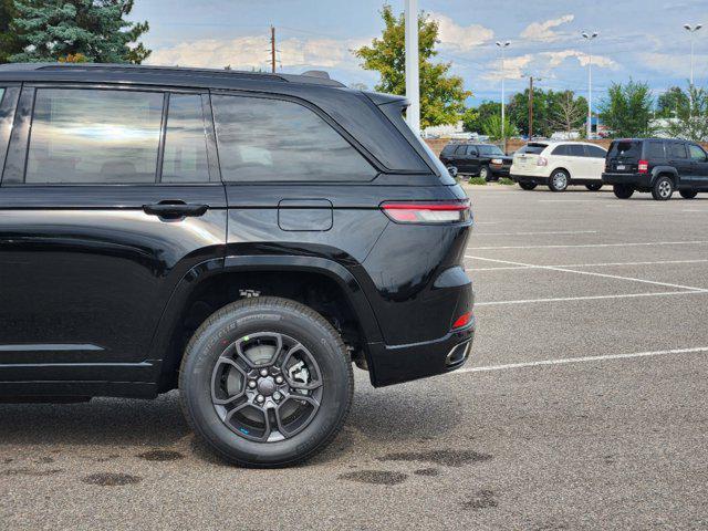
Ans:
<svg viewBox="0 0 708 531"><path fill-rule="evenodd" d="M90 77L90 80L87 80ZM92 81L92 82L133 82L165 83L175 79L188 83L212 85L229 81L260 81L274 83L299 83L343 87L339 81L331 80L325 72L310 71L301 75L263 72L242 72L223 69L190 69L184 66L154 66L138 64L107 63L10 63L0 65L0 80L3 81Z"/></svg>

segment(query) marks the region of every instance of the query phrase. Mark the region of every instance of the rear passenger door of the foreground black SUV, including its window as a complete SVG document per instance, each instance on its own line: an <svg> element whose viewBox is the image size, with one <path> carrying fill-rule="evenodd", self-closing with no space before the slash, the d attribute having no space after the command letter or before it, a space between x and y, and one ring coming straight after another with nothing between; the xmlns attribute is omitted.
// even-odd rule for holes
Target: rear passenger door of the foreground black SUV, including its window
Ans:
<svg viewBox="0 0 708 531"><path fill-rule="evenodd" d="M198 91L24 85L0 187L1 382L153 377L175 285L223 256L209 110Z"/></svg>

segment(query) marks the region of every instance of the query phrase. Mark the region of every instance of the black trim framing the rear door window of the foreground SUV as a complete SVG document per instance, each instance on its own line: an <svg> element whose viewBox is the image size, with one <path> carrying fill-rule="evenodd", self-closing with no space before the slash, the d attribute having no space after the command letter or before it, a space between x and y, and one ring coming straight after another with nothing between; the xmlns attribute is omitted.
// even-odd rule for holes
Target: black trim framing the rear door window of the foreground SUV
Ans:
<svg viewBox="0 0 708 531"><path fill-rule="evenodd" d="M9 86L9 84L7 85ZM19 85L18 85L19 87ZM214 134L214 118L211 115L210 103L208 104L209 114L205 106L205 96L208 98L209 91L205 88L190 87L170 87L155 85L114 85L110 83L23 83L21 92L18 91L19 98L14 112L14 122L12 133L10 135L10 144L6 158L6 170L2 175L1 186L20 186L20 187L194 187L194 186L219 186L221 185L220 173L218 171L218 158L216 156L216 136ZM156 154L157 165L155 169L155 179L153 183L25 183L27 166L30 147L30 136L32 128L32 119L34 117L34 102L38 88L49 90L86 90L86 91L126 91L126 92L152 92L163 95L163 117L160 122L160 142L158 153ZM205 132L207 142L207 157L209 179L202 183L162 183L162 164L164 156L164 143L166 134L166 102L171 94L197 94L201 96L201 108L205 121ZM1 167L1 166L0 166Z"/></svg>

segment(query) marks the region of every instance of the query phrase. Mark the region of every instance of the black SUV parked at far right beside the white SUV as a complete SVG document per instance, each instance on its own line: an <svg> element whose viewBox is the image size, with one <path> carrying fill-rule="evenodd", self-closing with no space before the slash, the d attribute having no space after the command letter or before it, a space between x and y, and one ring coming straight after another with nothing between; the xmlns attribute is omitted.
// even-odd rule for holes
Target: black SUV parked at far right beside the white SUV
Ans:
<svg viewBox="0 0 708 531"><path fill-rule="evenodd" d="M602 181L613 185L615 196L628 199L635 191L650 191L666 201L674 190L693 199L708 191L708 155L698 144L664 138L614 140Z"/></svg>

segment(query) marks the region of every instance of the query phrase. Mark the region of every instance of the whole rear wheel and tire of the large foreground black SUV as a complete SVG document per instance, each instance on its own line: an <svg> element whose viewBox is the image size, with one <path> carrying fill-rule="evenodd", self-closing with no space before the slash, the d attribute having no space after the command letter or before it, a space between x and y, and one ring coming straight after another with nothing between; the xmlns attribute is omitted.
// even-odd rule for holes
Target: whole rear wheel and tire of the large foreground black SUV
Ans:
<svg viewBox="0 0 708 531"><path fill-rule="evenodd" d="M342 429L354 381L340 334L312 309L274 296L246 299L208 317L181 362L183 410L222 459L293 465Z"/></svg>

